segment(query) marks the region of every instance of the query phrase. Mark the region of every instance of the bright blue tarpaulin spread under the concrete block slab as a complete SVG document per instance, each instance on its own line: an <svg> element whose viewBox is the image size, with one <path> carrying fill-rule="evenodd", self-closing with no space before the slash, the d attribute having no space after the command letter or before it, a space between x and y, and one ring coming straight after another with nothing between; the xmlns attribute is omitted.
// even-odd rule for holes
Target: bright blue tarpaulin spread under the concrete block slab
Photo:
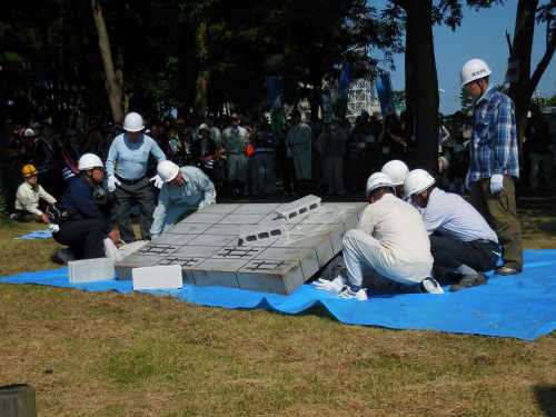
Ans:
<svg viewBox="0 0 556 417"><path fill-rule="evenodd" d="M67 268L3 277L0 282L86 291L133 290L131 281L69 284ZM304 285L289 296L195 285L185 285L179 290L146 292L176 296L185 302L203 306L265 308L291 315L322 305L339 321L351 325L533 340L556 329L556 250L526 250L522 274L492 276L487 285L445 295L380 295L371 296L368 301L357 301L339 299L311 285Z"/></svg>

